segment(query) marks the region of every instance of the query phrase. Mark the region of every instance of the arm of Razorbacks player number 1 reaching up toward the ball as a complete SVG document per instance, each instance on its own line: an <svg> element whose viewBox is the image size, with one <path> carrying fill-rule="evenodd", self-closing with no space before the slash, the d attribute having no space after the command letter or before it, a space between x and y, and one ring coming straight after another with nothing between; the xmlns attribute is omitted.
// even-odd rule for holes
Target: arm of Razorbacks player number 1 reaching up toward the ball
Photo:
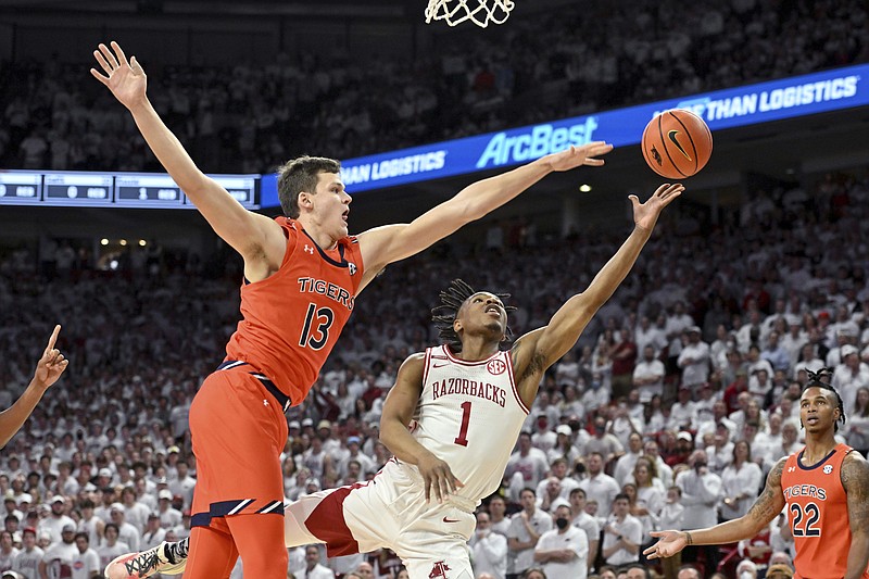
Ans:
<svg viewBox="0 0 869 579"><path fill-rule="evenodd" d="M527 372L542 373L576 344L592 316L613 295L633 267L640 251L652 235L660 212L683 190L684 187L678 184L662 185L645 203L640 203L637 196L630 196L634 228L625 243L597 273L585 291L567 300L546 326L526 333L516 341L513 358L516 376L520 382L524 381Z"/></svg>

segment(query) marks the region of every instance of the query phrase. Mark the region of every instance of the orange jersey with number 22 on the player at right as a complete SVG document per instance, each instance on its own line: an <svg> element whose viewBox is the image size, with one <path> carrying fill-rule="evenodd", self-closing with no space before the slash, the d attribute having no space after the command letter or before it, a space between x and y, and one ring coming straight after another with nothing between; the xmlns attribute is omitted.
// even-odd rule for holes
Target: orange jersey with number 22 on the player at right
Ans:
<svg viewBox="0 0 869 579"><path fill-rule="evenodd" d="M852 448L837 444L816 465L802 464L805 449L788 457L781 488L788 503L788 524L794 536L795 579L826 579L845 576L851 526L842 461ZM864 578L869 575L864 574Z"/></svg>

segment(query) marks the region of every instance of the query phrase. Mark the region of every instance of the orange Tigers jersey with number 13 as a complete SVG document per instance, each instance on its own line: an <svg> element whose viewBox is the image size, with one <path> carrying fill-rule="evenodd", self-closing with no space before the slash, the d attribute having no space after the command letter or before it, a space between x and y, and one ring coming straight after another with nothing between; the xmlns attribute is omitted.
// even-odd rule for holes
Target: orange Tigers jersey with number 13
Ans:
<svg viewBox="0 0 869 579"><path fill-rule="evenodd" d="M287 252L272 276L241 286L242 320L226 347L300 404L344 328L362 282L355 237L322 250L301 224L278 217Z"/></svg>

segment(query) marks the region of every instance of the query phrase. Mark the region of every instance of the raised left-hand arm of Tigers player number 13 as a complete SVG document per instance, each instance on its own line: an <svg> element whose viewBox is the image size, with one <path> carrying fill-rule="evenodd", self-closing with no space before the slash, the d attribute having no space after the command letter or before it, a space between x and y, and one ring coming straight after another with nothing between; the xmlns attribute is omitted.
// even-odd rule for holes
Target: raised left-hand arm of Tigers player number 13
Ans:
<svg viewBox="0 0 869 579"><path fill-rule="evenodd" d="M286 249L280 227L264 215L247 211L226 189L197 167L148 100L148 77L141 64L136 56L127 61L117 42L111 45L112 50L100 45L99 50L93 51L104 74L96 68L91 68L90 74L129 110L151 151L215 232L241 253L245 261L248 256L262 254L264 249L268 253L272 248L269 241L277 243L279 263Z"/></svg>

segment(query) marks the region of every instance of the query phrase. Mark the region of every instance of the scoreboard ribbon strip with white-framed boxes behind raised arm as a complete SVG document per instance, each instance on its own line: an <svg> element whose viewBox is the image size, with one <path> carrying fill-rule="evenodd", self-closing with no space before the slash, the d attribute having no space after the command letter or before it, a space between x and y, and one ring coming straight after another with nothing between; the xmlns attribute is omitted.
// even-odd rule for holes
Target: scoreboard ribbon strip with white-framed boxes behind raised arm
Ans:
<svg viewBox="0 0 869 579"><path fill-rule="evenodd" d="M242 206L260 209L260 175L211 175ZM166 174L0 171L0 205L196 209Z"/></svg>

